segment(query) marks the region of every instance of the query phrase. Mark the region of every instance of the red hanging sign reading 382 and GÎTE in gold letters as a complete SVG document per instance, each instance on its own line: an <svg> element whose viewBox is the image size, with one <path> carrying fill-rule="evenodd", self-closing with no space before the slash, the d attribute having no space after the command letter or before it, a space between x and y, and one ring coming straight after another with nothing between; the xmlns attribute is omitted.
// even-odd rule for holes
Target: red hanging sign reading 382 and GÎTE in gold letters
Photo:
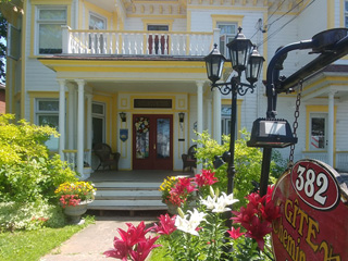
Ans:
<svg viewBox="0 0 348 261"><path fill-rule="evenodd" d="M278 179L273 191L282 214L273 223L275 260L348 260L348 195L337 176L321 161L300 160Z"/></svg>

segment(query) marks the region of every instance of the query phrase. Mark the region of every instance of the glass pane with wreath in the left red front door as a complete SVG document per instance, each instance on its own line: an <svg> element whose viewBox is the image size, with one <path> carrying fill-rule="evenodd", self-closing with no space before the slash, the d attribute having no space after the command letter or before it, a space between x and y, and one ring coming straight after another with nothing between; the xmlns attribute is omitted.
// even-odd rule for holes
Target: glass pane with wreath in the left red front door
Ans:
<svg viewBox="0 0 348 261"><path fill-rule="evenodd" d="M135 129L136 129L136 159L147 159L149 158L149 130L150 130L150 121L147 117L136 117L135 120Z"/></svg>

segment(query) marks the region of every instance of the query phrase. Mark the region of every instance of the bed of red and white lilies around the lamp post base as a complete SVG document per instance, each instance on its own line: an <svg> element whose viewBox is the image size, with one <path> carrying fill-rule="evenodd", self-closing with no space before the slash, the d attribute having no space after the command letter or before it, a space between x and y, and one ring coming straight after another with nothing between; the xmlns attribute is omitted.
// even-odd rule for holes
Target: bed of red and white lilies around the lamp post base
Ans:
<svg viewBox="0 0 348 261"><path fill-rule="evenodd" d="M121 238L115 237L114 249L104 254L144 261L152 249L162 248L163 256L175 261L272 259L268 235L272 232L272 222L279 216L271 198L272 188L262 198L258 192L250 194L246 207L232 211L231 206L238 200L214 189L215 183L217 179L210 171L202 171L195 178L165 179L161 186L164 200L176 203L178 214L160 215L159 223L147 229L144 224L138 227L128 224L127 232L119 229ZM199 200L190 208L187 199L194 191ZM227 211L235 215L232 227L226 226L224 213ZM158 236L146 237L150 231Z"/></svg>

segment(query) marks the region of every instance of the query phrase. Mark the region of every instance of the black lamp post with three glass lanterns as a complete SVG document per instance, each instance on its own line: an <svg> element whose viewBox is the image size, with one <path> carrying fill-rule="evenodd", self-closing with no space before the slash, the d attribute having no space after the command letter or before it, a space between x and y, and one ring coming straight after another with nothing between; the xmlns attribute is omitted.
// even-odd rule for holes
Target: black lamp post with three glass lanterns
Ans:
<svg viewBox="0 0 348 261"><path fill-rule="evenodd" d="M238 28L239 33L234 40L228 42L228 48L232 67L236 71L237 75L231 77L229 83L216 82L222 76L222 71L226 59L216 49L217 45L214 45L214 49L204 58L207 66L208 78L212 82L211 89L219 88L222 95L232 94L232 112L231 112L231 136L229 136L229 151L225 152L222 158L216 158L214 165L219 166L223 161L228 162L227 167L227 194L233 192L235 170L235 137L236 137L236 115L237 115L237 95L244 96L250 89L253 92L256 88L254 83L258 80L262 64L264 62L263 57L259 54L256 48L253 48L251 41L246 39L241 34L241 28ZM246 79L249 84L241 83L241 73L246 71ZM228 219L229 220L229 219ZM229 225L231 226L231 225ZM228 226L228 227L229 227Z"/></svg>

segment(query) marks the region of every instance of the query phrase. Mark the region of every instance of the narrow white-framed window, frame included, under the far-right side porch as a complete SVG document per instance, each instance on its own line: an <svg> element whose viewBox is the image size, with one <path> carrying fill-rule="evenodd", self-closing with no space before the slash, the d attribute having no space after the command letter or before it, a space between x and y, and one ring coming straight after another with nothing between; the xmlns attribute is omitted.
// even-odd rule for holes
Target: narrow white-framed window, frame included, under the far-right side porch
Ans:
<svg viewBox="0 0 348 261"><path fill-rule="evenodd" d="M310 128L310 150L325 150L327 146L327 113L311 113Z"/></svg>

